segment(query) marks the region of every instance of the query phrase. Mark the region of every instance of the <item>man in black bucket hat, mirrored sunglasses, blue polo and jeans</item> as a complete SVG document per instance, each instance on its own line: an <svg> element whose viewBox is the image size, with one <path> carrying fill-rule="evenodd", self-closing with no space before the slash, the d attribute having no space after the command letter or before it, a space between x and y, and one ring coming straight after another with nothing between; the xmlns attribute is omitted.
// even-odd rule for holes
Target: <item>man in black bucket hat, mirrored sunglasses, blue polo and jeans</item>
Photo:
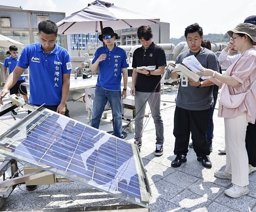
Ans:
<svg viewBox="0 0 256 212"><path fill-rule="evenodd" d="M109 102L113 115L113 135L123 138L122 135L122 98L126 98L127 67L129 67L125 50L115 45L118 34L111 27L104 27L99 40L105 46L99 47L92 60L91 70L95 72L99 67L99 75L93 100L91 126L99 129L100 119L104 108ZM121 93L122 73L124 89Z"/></svg>

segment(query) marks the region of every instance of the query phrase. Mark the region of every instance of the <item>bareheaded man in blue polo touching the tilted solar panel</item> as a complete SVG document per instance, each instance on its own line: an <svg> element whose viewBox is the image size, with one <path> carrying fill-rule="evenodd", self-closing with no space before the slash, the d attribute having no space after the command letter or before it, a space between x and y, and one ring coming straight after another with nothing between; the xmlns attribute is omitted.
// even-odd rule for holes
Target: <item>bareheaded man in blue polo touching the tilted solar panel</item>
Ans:
<svg viewBox="0 0 256 212"><path fill-rule="evenodd" d="M71 72L70 56L56 42L58 27L51 20L38 24L39 43L27 45L21 52L16 68L0 92L0 104L8 90L29 67L31 104L69 116L66 101Z"/></svg>

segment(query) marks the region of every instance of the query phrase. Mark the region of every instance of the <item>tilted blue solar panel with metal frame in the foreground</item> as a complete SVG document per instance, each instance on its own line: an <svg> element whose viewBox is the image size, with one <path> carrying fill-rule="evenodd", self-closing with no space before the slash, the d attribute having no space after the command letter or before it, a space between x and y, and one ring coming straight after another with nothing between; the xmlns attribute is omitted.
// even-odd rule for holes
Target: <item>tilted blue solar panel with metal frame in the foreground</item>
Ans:
<svg viewBox="0 0 256 212"><path fill-rule="evenodd" d="M151 191L135 144L46 108L2 134L0 153L149 207Z"/></svg>

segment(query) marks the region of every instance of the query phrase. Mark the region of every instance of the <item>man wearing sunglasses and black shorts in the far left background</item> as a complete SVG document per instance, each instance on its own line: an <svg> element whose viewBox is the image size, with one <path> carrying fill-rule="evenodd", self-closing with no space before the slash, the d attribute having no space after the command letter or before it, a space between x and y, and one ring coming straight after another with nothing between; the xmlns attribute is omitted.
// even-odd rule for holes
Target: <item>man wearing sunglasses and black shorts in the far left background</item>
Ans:
<svg viewBox="0 0 256 212"><path fill-rule="evenodd" d="M3 69L3 75L2 75L2 81L5 82L5 75L7 72L7 68L9 69L9 74L11 74L14 71L14 68L17 65L18 62L18 47L16 47L15 45L11 45L9 47L9 52L10 52L10 56L8 56L7 58L5 58L5 62L4 62L4 69ZM16 94L16 96L18 96L18 94L22 94L23 95L23 99L24 101L28 102L28 91L27 88L25 86L22 86L21 83L25 82L25 77L21 76L18 78L18 81L15 83L15 85L10 88L10 94Z"/></svg>

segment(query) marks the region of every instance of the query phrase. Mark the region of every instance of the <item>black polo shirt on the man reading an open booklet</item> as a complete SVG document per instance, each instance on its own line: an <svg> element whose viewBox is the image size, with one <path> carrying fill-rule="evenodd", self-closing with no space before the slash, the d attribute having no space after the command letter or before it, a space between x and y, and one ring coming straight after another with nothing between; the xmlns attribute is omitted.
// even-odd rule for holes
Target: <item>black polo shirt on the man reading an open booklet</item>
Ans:
<svg viewBox="0 0 256 212"><path fill-rule="evenodd" d="M148 49L140 47L134 51L132 59L132 67L137 68L140 66L156 65L166 66L166 57L162 47L155 45L154 42ZM139 92L159 92L160 91L161 75L150 75L138 73L135 89ZM157 88L156 88L157 87Z"/></svg>

